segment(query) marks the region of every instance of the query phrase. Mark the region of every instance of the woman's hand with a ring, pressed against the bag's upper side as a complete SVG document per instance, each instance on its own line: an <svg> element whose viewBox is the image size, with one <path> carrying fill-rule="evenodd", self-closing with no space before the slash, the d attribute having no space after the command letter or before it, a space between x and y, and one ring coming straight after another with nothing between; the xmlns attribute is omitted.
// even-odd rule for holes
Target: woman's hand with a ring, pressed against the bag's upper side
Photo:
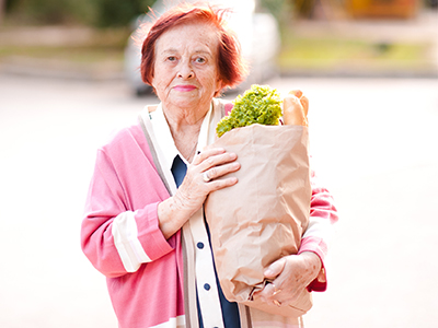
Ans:
<svg viewBox="0 0 438 328"><path fill-rule="evenodd" d="M218 179L240 168L237 159L237 154L221 148L208 149L195 156L176 194L158 207L160 229L166 238L203 207L208 194L238 183L237 177Z"/></svg>

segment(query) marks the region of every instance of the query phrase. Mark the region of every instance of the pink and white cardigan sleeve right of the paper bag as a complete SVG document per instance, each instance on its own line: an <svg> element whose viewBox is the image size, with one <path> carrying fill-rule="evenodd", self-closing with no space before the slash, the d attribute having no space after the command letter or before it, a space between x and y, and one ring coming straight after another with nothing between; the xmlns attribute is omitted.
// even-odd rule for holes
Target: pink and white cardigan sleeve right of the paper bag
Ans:
<svg viewBox="0 0 438 328"><path fill-rule="evenodd" d="M337 222L337 210L332 195L327 189L319 185L315 173L311 172L312 197L310 201L309 226L301 241L298 254L303 251L315 253L322 262L325 273L324 258L327 255L328 238L333 234L334 224ZM325 291L325 282L314 280L309 286L309 291Z"/></svg>

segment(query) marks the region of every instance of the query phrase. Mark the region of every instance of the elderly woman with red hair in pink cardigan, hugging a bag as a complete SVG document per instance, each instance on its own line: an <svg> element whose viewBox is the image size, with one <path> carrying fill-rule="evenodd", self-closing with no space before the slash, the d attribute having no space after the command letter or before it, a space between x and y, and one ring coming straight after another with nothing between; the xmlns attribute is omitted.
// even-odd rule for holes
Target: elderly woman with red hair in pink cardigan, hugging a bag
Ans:
<svg viewBox="0 0 438 328"><path fill-rule="evenodd" d="M97 152L81 245L107 278L119 327L302 327L302 319L228 302L217 282L203 203L238 184L237 154L204 148L231 104L215 98L243 80L226 11L177 7L150 28L141 74L161 103ZM324 256L337 220L328 192L312 181L311 215L298 255L266 268L267 304L287 306L303 290L325 289ZM187 229L187 226L191 226ZM279 292L280 291L280 292ZM295 326L293 326L295 325Z"/></svg>

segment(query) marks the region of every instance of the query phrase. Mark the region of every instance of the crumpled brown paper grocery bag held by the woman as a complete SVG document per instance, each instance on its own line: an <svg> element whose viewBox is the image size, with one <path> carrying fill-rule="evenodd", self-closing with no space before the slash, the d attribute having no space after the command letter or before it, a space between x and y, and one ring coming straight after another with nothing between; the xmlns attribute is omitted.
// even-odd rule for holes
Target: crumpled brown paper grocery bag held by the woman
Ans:
<svg viewBox="0 0 438 328"><path fill-rule="evenodd" d="M297 254L309 223L309 133L302 126L253 125L233 129L209 148L238 154L239 183L214 191L205 203L216 269L231 302L284 316L312 306L303 291L296 304L268 306L252 298L264 284L263 272L275 260Z"/></svg>

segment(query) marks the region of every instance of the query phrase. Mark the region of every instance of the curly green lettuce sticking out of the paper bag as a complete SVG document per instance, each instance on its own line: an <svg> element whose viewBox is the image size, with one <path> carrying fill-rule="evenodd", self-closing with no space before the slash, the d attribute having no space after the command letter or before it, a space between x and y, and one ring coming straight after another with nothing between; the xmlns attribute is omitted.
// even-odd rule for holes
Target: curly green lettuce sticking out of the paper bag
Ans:
<svg viewBox="0 0 438 328"><path fill-rule="evenodd" d="M277 90L268 85L253 84L233 101L234 107L217 128L218 137L234 129L254 124L277 126L281 116L281 99Z"/></svg>

